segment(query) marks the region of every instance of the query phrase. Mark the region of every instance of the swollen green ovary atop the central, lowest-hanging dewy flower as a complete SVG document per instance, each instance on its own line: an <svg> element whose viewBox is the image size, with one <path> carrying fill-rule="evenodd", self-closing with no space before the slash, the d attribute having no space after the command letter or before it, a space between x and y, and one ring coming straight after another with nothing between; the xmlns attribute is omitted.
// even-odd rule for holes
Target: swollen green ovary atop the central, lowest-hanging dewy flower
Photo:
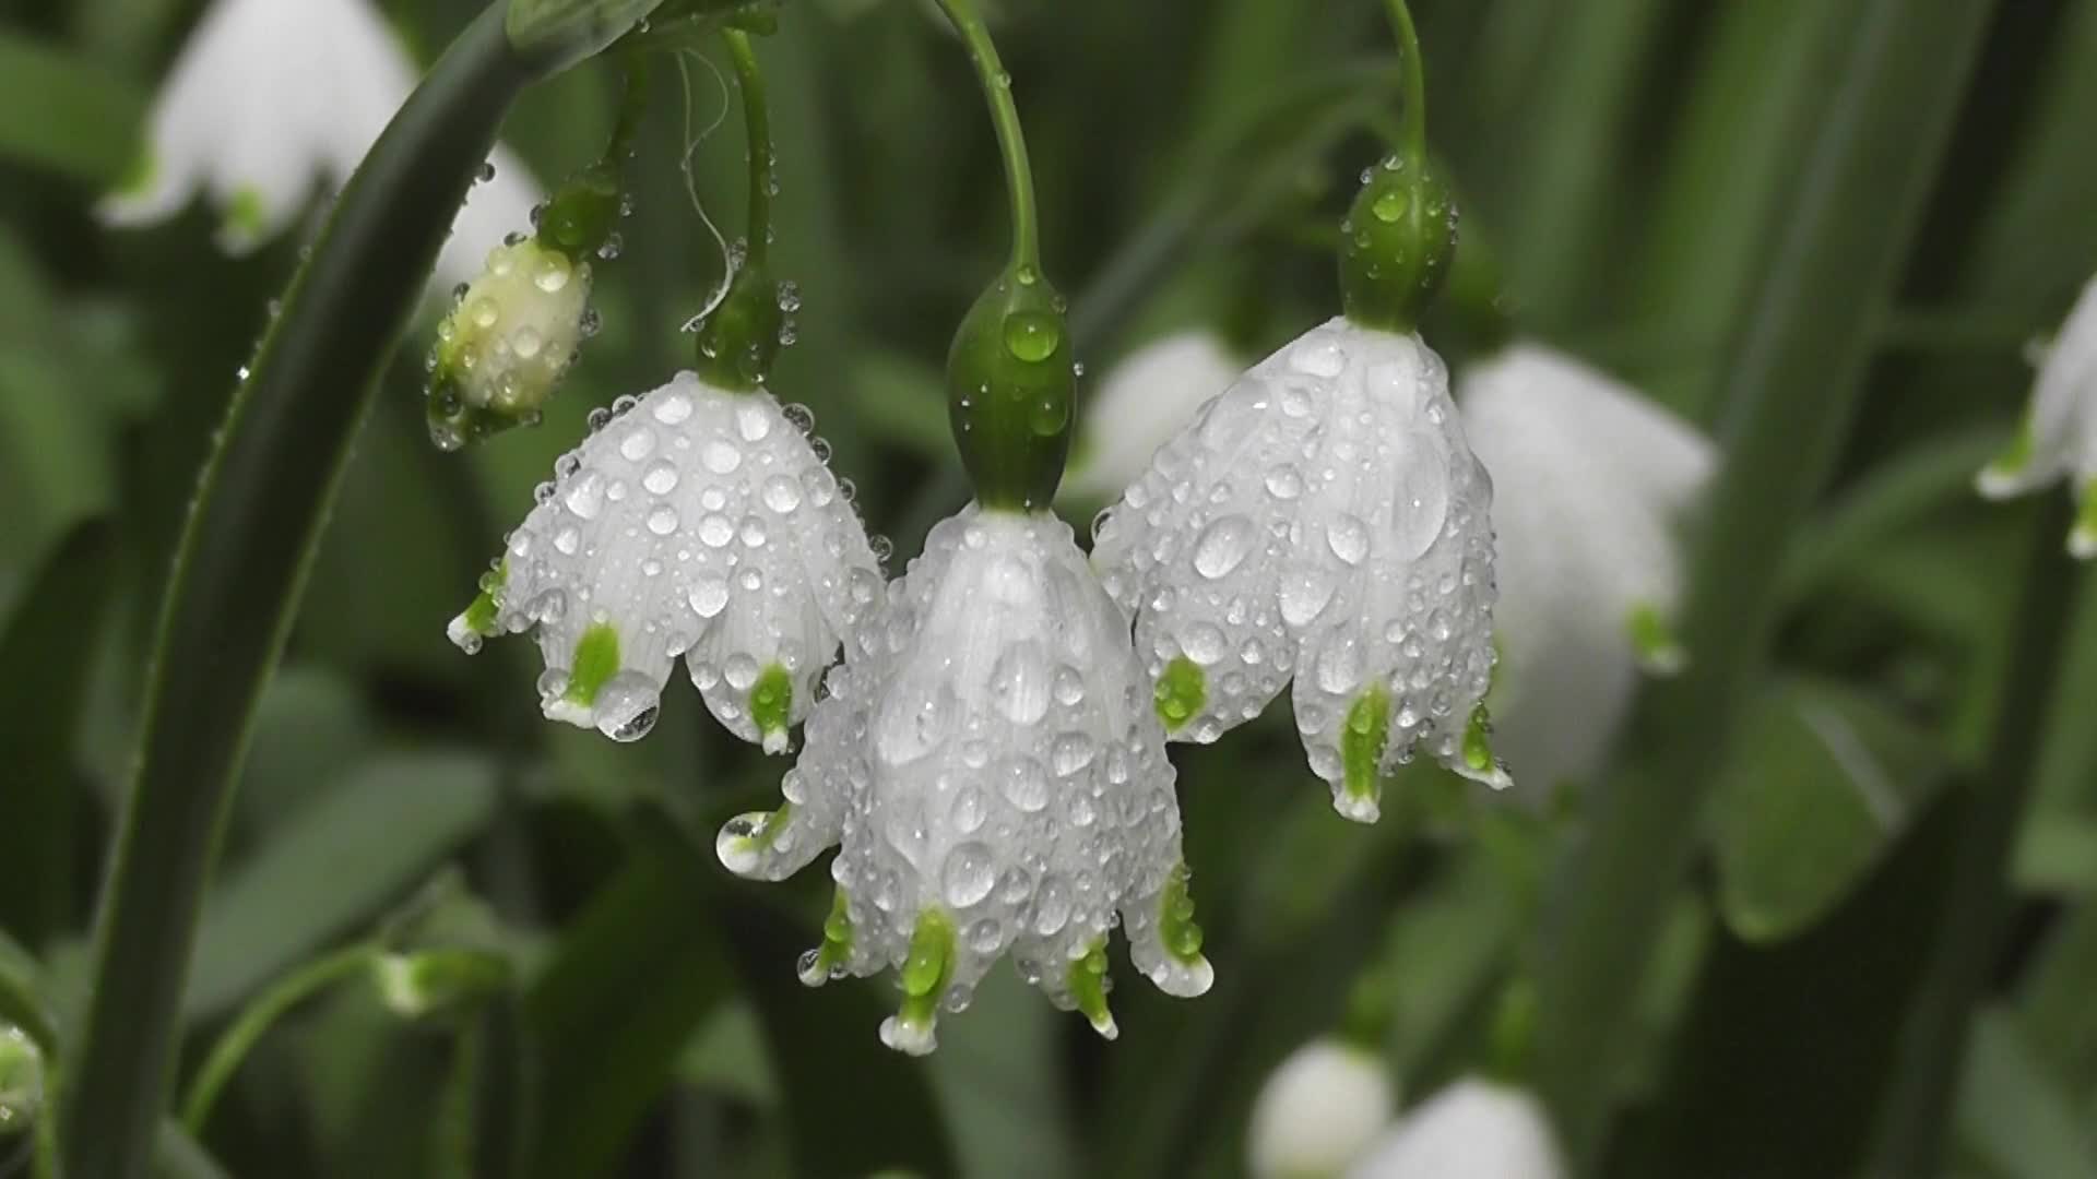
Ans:
<svg viewBox="0 0 2097 1179"><path fill-rule="evenodd" d="M983 508L1048 508L1069 457L1072 365L1063 296L1032 266L975 300L946 361L946 407Z"/></svg>

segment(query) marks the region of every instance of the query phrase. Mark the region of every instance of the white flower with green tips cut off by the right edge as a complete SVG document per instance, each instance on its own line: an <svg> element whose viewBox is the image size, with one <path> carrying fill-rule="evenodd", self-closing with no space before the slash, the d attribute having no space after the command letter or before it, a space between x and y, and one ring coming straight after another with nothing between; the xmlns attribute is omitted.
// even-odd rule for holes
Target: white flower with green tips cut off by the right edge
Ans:
<svg viewBox="0 0 2097 1179"><path fill-rule="evenodd" d="M2072 478L2080 497L2068 552L2097 556L2097 279L2045 350L2017 441L1980 472L1980 493L2009 499Z"/></svg>

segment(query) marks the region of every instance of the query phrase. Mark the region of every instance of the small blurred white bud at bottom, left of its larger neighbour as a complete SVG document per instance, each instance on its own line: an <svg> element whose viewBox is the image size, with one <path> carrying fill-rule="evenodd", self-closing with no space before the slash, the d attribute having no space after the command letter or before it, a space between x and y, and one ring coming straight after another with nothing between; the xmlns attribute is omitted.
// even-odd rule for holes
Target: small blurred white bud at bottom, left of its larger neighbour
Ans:
<svg viewBox="0 0 2097 1179"><path fill-rule="evenodd" d="M1382 1059L1340 1041L1311 1041L1269 1074L1252 1103L1252 1177L1340 1175L1390 1122L1392 1103Z"/></svg>

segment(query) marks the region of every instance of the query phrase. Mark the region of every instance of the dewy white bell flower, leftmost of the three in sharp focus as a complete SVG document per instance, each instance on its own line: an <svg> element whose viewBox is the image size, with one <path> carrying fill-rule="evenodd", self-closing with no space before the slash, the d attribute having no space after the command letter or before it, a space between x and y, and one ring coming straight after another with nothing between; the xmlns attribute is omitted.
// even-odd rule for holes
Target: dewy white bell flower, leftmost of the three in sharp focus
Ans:
<svg viewBox="0 0 2097 1179"><path fill-rule="evenodd" d="M778 753L816 680L881 600L881 566L801 407L694 373L621 399L562 455L463 650L537 627L549 720L635 741L684 655L713 715Z"/></svg>

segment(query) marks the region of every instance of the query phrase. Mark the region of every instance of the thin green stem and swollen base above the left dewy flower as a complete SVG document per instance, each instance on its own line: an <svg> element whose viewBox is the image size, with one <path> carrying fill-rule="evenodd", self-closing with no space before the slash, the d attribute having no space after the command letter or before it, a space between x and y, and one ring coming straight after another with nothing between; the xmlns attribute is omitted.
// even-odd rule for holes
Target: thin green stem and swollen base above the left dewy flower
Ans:
<svg viewBox="0 0 2097 1179"><path fill-rule="evenodd" d="M772 151L772 113L765 105L765 76L757 52L742 29L723 29L728 57L736 67L736 88L742 90L742 128L751 153L751 208L742 258L730 264L728 294L698 325L698 376L717 388L753 392L763 388L780 352L780 329L786 310L780 306L780 285L772 279L772 191L776 157Z"/></svg>

